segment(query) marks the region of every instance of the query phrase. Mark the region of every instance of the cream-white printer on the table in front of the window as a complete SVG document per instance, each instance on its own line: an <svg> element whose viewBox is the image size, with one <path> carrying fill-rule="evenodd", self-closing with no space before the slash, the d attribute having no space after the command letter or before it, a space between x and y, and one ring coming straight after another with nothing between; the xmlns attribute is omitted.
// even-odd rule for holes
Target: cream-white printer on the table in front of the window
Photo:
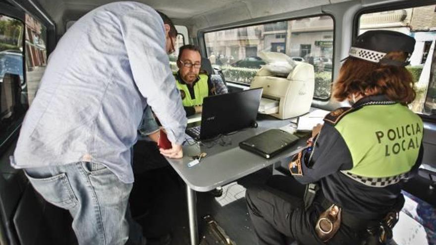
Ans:
<svg viewBox="0 0 436 245"><path fill-rule="evenodd" d="M293 61L284 53L261 52L259 56L268 63L250 85L250 88L264 88L259 113L287 119L309 112L315 89L313 65ZM280 67L284 62L290 63L290 67L286 65L287 70ZM284 72L289 70L286 76Z"/></svg>

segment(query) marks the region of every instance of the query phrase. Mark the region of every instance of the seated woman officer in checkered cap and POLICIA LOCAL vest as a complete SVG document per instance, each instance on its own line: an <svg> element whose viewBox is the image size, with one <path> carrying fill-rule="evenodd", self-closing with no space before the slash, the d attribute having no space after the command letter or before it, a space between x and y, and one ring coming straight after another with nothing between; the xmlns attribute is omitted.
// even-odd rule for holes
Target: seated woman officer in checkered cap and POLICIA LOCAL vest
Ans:
<svg viewBox="0 0 436 245"><path fill-rule="evenodd" d="M352 106L314 128L289 164L294 178L273 176L247 190L259 244L283 245L286 237L305 245L382 244L391 236L404 204L400 181L422 158L423 123L406 106L415 98L404 68L414 45L392 31L357 38L333 91ZM304 198L300 183L315 183Z"/></svg>

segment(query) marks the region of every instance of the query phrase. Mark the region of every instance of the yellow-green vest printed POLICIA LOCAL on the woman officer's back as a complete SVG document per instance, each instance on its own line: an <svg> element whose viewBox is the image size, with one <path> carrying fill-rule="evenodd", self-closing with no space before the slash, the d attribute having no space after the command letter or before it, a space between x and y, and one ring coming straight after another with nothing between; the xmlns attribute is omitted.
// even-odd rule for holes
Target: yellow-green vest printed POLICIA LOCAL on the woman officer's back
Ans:
<svg viewBox="0 0 436 245"><path fill-rule="evenodd" d="M418 158L424 128L407 106L377 103L339 108L325 121L334 125L351 153L353 168L342 173L365 185L384 187L407 176Z"/></svg>

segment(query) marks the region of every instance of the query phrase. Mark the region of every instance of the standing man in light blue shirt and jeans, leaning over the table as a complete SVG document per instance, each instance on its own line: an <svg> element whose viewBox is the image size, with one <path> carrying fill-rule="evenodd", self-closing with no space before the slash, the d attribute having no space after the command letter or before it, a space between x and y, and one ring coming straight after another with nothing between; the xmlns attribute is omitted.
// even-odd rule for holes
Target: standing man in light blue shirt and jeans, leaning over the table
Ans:
<svg viewBox="0 0 436 245"><path fill-rule="evenodd" d="M11 165L70 211L79 244L143 243L128 208L130 149L150 105L172 143L161 153L182 156L186 116L167 57L176 35L151 7L114 2L74 23L49 58Z"/></svg>

